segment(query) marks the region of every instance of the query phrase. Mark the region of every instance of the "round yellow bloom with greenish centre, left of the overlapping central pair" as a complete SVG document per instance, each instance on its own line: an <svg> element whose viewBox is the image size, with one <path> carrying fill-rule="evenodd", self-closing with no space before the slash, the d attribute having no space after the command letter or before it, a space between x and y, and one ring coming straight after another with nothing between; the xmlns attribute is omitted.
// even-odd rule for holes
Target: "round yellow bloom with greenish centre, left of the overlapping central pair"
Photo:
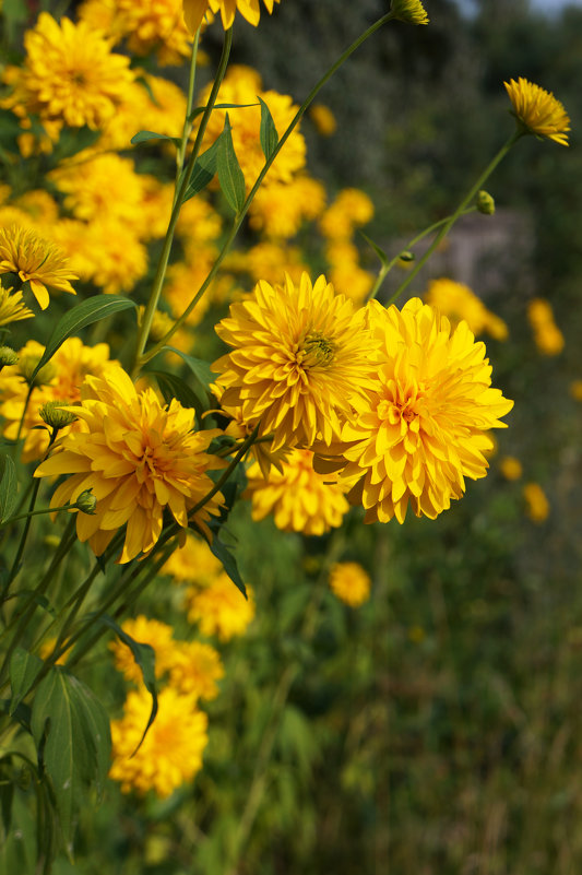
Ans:
<svg viewBox="0 0 582 875"><path fill-rule="evenodd" d="M234 352L214 363L227 406L241 406L259 436L273 433L273 450L284 445L330 444L351 398L370 386L373 342L344 295L320 276L304 273L298 286L260 282L251 300L230 306L216 326Z"/></svg>

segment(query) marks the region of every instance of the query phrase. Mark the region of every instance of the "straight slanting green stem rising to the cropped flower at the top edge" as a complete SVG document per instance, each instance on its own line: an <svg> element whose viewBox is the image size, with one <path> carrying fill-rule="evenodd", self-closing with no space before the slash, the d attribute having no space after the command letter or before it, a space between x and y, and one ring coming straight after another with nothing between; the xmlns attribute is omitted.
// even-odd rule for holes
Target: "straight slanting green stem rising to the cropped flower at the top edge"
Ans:
<svg viewBox="0 0 582 875"><path fill-rule="evenodd" d="M162 252L159 256L159 260L157 262L156 274L154 277L154 283L152 287L152 294L150 295L150 299L145 307L142 323L138 331L138 338L135 341L135 354L134 354L134 365L132 369L132 376L135 377L143 364L143 351L145 348L145 344L147 343L147 338L150 336L150 330L152 328L152 321L154 319L155 311L157 309L157 305L159 301L159 296L162 294L162 286L164 285L164 280L166 277L166 270L168 267L169 255L171 250L171 245L174 243L174 233L176 230L176 225L178 222L178 216L180 214L180 209L186 196L186 191L188 186L190 185L190 179L192 177L192 172L194 169L194 164L198 158L200 146L202 144L202 139L204 137L206 126L209 123L209 119L211 113L214 108L214 104L216 103L216 96L218 94L218 90L223 82L224 75L226 73L226 67L228 64L228 57L230 55L230 46L233 44L233 28L230 27L228 31L225 32L225 40L223 45L223 54L221 57L221 62L218 64L218 70L216 73L216 78L214 80L214 84L212 86L212 91L209 97L209 102L206 104L206 108L202 115L202 119L200 122L200 128L198 129L197 138L194 141L194 146L192 149L192 153L188 161L188 165L186 170L181 175L181 182L177 187L176 197L174 199L174 206L171 208L171 215L168 224L168 229L166 232L166 237L164 239L164 246L162 248ZM197 43L194 42L194 47ZM192 54L194 51L194 47L192 48ZM188 118L188 117L187 117ZM186 123L185 123L186 129ZM174 332L173 332L174 333Z"/></svg>

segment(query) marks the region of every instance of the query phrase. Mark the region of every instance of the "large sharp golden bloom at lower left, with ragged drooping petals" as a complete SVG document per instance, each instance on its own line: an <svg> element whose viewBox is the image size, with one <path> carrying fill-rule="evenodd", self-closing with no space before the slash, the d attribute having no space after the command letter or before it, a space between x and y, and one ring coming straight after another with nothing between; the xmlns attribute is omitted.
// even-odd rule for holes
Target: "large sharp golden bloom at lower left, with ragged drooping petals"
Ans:
<svg viewBox="0 0 582 875"><path fill-rule="evenodd" d="M116 532L126 525L118 561L127 563L155 546L165 509L188 528L189 510L213 483L207 471L224 466L206 450L216 430L194 431L194 412L174 399L161 404L152 389L138 393L120 368L102 378L87 377L81 405L73 409L82 431L59 439L56 452L35 471L36 477L68 474L51 506L76 501L85 489L97 499L92 516L78 513L76 534L100 556ZM206 522L223 497L217 493L194 516L211 536Z"/></svg>

